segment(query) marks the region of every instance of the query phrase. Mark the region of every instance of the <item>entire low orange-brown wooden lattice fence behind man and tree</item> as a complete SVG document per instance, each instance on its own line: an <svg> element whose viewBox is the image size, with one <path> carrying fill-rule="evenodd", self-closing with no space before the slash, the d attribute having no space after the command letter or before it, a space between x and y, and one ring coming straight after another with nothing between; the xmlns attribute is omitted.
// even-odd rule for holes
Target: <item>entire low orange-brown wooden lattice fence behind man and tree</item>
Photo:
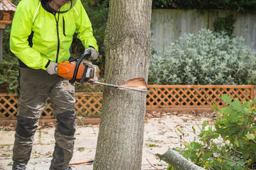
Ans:
<svg viewBox="0 0 256 170"><path fill-rule="evenodd" d="M255 98L255 86L215 86L215 85L149 85L146 96L146 111L188 111L223 107L220 99L228 94L240 101ZM75 94L75 110L78 118L100 118L102 94ZM16 119L18 100L16 94L0 94L0 120ZM47 102L41 119L52 119L53 108Z"/></svg>

